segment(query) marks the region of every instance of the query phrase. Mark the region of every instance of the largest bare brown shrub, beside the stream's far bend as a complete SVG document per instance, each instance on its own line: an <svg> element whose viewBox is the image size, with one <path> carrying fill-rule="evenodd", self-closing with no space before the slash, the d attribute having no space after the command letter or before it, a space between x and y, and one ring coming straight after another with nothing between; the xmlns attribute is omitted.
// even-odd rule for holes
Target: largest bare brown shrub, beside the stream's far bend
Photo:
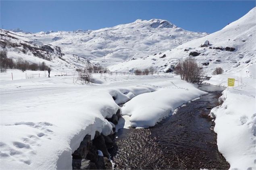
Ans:
<svg viewBox="0 0 256 170"><path fill-rule="evenodd" d="M204 78L202 69L198 66L196 61L192 58L179 61L175 67L175 74L181 76L181 80L187 82L201 84Z"/></svg>

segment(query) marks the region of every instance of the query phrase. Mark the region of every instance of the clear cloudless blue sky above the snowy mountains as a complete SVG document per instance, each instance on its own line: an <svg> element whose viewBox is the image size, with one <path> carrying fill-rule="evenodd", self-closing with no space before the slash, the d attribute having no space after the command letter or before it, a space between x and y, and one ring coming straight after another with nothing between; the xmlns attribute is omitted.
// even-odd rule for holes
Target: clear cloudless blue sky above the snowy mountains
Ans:
<svg viewBox="0 0 256 170"><path fill-rule="evenodd" d="M101 29L160 18L189 31L212 33L255 7L251 1L6 1L1 28L24 31Z"/></svg>

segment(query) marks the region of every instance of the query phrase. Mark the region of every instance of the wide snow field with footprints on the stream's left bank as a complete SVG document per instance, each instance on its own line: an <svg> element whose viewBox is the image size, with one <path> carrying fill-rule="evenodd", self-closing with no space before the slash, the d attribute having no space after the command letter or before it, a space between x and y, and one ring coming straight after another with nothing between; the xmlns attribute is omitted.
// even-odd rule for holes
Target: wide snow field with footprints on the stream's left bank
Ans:
<svg viewBox="0 0 256 170"><path fill-rule="evenodd" d="M73 83L73 76L40 74L25 79L25 73L12 72L15 80L10 80L10 70L0 74L1 169L71 169L71 154L85 135L93 139L95 131L112 133L114 125L105 118L120 109L119 103L173 79L118 75L114 82L113 76L106 75L102 77L106 84L81 85ZM100 74L95 77L100 79Z"/></svg>

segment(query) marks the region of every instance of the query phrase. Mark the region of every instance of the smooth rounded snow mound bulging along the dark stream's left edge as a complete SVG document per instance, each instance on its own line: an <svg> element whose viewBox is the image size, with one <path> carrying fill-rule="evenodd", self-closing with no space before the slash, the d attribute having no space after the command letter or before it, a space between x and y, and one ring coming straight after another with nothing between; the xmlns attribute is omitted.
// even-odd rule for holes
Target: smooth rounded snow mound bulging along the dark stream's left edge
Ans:
<svg viewBox="0 0 256 170"><path fill-rule="evenodd" d="M176 80L170 87L134 97L123 105L122 115L131 117L129 121L132 127L152 127L181 104L203 94L207 93L189 83Z"/></svg>

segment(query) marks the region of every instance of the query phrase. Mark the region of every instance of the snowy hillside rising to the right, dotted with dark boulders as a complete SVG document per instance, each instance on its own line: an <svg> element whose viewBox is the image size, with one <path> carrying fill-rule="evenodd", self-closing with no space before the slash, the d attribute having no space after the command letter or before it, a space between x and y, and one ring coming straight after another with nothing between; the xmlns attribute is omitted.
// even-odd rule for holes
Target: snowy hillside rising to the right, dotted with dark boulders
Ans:
<svg viewBox="0 0 256 170"><path fill-rule="evenodd" d="M206 65L204 68L208 73L211 73L216 67L222 67L225 72L239 72L256 61L255 35L256 8L253 8L248 14L230 23L220 31L183 43L174 49L162 51L156 55L124 61L110 66L109 69L112 71L131 71L154 66L156 70L165 72L172 69L179 60L188 58L191 52L196 51L200 55L194 58L202 66ZM205 41L209 41L210 44L206 47L200 47ZM235 50L226 51L225 47L232 47ZM166 57L164 57L164 54Z"/></svg>

